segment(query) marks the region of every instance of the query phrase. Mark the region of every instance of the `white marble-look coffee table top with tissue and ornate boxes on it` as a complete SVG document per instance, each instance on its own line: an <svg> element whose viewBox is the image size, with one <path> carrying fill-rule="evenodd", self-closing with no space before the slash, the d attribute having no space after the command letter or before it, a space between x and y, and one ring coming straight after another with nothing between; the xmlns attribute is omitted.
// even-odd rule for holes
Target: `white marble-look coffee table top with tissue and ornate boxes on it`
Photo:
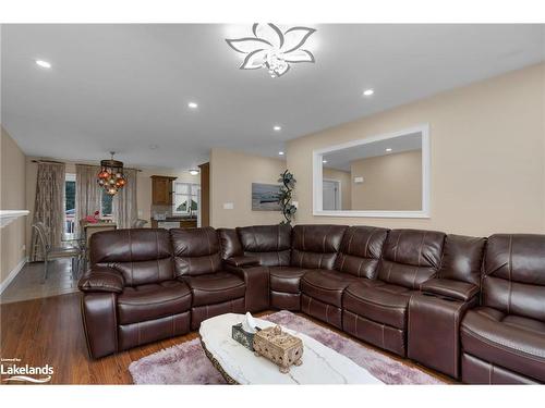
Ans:
<svg viewBox="0 0 545 408"><path fill-rule="evenodd" d="M231 384L383 384L367 370L349 358L326 347L314 338L286 327L303 341L303 363L292 366L282 374L278 366L254 354L231 338L233 324L242 322L243 314L226 313L201 323L201 343L214 367ZM256 319L265 329L275 323Z"/></svg>

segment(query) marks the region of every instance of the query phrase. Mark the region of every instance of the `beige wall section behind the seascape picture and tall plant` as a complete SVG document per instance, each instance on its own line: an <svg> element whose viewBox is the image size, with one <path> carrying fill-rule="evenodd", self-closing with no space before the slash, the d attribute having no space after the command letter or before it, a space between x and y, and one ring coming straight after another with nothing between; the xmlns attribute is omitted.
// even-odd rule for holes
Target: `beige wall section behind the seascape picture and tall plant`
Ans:
<svg viewBox="0 0 545 408"><path fill-rule="evenodd" d="M283 160L213 149L210 225L234 227L280 222L282 215L279 211L252 211L252 183L278 184L278 177L284 170ZM225 202L232 202L234 208L225 210Z"/></svg>

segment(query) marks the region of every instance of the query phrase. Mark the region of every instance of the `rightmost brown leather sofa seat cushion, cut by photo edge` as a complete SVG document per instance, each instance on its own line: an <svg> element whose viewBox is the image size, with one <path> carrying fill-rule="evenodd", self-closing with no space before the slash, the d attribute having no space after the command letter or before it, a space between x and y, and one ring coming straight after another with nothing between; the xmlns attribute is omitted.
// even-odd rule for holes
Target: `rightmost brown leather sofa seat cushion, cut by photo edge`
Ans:
<svg viewBox="0 0 545 408"><path fill-rule="evenodd" d="M477 307L462 320L465 353L520 374L545 381L545 323Z"/></svg>

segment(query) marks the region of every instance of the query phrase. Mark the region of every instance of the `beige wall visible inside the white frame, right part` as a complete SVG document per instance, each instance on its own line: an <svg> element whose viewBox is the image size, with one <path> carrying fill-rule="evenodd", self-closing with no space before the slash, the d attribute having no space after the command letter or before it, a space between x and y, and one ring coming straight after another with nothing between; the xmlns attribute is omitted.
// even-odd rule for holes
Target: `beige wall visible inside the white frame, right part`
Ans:
<svg viewBox="0 0 545 408"><path fill-rule="evenodd" d="M352 210L422 210L422 151L404 151L351 163ZM364 182L355 184L354 177Z"/></svg>

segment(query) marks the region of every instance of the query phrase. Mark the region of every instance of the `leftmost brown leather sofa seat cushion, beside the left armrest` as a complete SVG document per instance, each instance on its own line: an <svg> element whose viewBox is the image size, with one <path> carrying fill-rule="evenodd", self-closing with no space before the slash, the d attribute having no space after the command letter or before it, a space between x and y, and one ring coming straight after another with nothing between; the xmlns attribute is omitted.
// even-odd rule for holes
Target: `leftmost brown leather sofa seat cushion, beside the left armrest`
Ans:
<svg viewBox="0 0 545 408"><path fill-rule="evenodd" d="M125 287L118 296L120 324L179 314L191 308L191 290L179 281Z"/></svg>

